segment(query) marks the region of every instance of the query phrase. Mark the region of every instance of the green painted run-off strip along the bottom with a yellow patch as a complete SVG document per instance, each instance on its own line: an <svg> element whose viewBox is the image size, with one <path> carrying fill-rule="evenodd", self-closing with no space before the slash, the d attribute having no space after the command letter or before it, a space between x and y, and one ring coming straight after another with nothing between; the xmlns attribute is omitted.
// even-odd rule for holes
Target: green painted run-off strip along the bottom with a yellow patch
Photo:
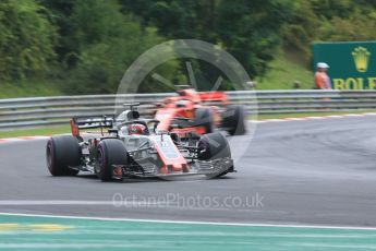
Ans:
<svg viewBox="0 0 376 251"><path fill-rule="evenodd" d="M376 230L0 216L0 250L374 250Z"/></svg>

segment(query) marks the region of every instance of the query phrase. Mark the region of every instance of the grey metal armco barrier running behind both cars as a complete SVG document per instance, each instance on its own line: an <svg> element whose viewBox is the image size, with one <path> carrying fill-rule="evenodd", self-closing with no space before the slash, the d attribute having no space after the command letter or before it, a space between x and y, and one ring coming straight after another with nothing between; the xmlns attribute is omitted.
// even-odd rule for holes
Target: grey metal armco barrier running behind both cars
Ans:
<svg viewBox="0 0 376 251"><path fill-rule="evenodd" d="M141 103L140 111L149 116L155 109L156 101L172 95L175 94L0 99L0 130L64 124L73 116L114 113L116 108L121 109L119 104L128 100ZM376 109L376 91L242 91L228 92L228 95L231 103L243 104L248 112L260 115Z"/></svg>

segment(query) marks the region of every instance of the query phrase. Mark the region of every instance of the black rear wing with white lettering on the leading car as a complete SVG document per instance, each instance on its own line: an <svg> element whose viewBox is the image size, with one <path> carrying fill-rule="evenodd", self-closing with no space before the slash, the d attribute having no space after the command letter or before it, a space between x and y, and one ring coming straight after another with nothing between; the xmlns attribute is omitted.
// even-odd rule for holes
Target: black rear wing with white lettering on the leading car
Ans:
<svg viewBox="0 0 376 251"><path fill-rule="evenodd" d="M113 115L80 116L71 119L72 135L80 136L81 129L111 129L113 127Z"/></svg>

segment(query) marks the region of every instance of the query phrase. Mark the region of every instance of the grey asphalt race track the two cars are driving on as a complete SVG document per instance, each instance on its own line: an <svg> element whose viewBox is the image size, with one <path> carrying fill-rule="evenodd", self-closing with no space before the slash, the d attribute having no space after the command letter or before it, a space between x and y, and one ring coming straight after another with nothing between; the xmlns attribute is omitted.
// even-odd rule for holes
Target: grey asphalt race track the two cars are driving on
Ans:
<svg viewBox="0 0 376 251"><path fill-rule="evenodd" d="M231 140L247 147L239 172L215 180L51 177L46 141L0 144L0 212L375 227L375 116L259 123L251 145Z"/></svg>

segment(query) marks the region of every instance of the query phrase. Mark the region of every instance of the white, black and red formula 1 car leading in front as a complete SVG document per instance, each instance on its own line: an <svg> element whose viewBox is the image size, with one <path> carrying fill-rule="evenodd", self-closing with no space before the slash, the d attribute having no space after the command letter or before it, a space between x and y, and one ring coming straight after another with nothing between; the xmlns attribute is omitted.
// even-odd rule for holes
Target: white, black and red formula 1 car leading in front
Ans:
<svg viewBox="0 0 376 251"><path fill-rule="evenodd" d="M48 169L52 176L88 171L102 181L189 175L214 178L234 171L229 143L221 133L198 136L187 132L180 138L157 131L158 123L140 119L134 105L118 117L75 117L71 120L72 135L49 139ZM84 140L80 135L83 129L100 129L100 133L86 134Z"/></svg>

